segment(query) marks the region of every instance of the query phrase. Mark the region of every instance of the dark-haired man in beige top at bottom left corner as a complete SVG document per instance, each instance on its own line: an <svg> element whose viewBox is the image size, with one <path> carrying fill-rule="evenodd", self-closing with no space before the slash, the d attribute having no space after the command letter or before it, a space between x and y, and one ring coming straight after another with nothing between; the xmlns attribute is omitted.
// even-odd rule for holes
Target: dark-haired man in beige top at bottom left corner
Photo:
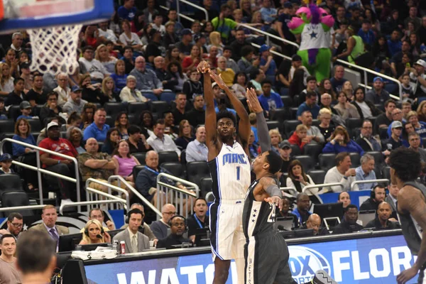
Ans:
<svg viewBox="0 0 426 284"><path fill-rule="evenodd" d="M11 234L0 238L0 278L5 284L21 283L21 274L16 270L16 239Z"/></svg>

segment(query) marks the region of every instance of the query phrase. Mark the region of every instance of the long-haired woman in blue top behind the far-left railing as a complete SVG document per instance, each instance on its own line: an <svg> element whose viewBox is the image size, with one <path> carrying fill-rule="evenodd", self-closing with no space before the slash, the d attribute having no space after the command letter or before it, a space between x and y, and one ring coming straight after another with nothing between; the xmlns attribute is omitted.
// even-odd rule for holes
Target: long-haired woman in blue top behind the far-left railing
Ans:
<svg viewBox="0 0 426 284"><path fill-rule="evenodd" d="M15 124L15 135L13 135L13 140L21 141L24 143L35 145L35 138L31 134L31 126L26 119L18 119ZM35 157L35 152L26 146L19 145L17 143L12 143L13 157L20 157L18 160L21 163L27 165L37 165L37 158ZM38 187L38 178L37 172L34 170L23 170L23 179L27 183L28 190L37 190Z"/></svg>

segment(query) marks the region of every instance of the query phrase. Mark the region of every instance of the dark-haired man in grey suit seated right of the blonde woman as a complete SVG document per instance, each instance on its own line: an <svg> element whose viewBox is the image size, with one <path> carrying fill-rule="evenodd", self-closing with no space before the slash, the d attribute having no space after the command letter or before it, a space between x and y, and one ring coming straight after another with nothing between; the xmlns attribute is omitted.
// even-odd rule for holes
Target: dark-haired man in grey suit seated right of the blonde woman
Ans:
<svg viewBox="0 0 426 284"><path fill-rule="evenodd" d="M129 226L124 231L116 234L112 239L114 241L125 241L126 253L139 253L144 249L149 249L149 239L140 231L139 226L142 224L143 213L139 209L131 209L127 214Z"/></svg>

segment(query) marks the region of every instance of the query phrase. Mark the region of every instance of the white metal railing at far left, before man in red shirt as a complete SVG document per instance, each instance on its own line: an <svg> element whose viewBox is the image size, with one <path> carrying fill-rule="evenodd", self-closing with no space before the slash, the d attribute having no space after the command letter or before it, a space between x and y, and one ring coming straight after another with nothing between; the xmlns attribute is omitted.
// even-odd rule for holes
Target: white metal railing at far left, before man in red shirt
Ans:
<svg viewBox="0 0 426 284"><path fill-rule="evenodd" d="M38 195L40 198L40 204L43 205L43 185L42 185L42 179L41 179L41 173L44 173L45 175L52 175L56 178L60 178L62 180L67 180L69 182L75 182L75 186L76 186L76 190L77 190L77 202L81 201L81 197L80 197L80 176L79 176L79 171L78 171L78 163L77 163L77 159L74 157L71 157L69 155L64 155L61 153L57 153L55 151L50 151L48 149L45 148L40 148L38 146L33 146L31 144L25 143L25 142L21 142L21 141L17 141L14 140L12 138L4 138L1 143L0 143L0 154L3 154L3 146L4 143L6 142L10 142L10 143L16 143L19 144L21 146L25 146L26 148L31 148L33 150L35 150L35 155L37 158L37 166L34 167L33 165L27 165L24 163L20 163L16 160L12 160L13 165L18 165L22 168L27 168L29 170L35 170L37 171L37 176L38 176ZM53 173L50 170L45 170L43 168L41 168L41 163L40 163L40 151L44 152L44 153L49 153L50 155L57 155L58 157L61 158L65 158L65 160L71 160L74 163L74 168L75 168L75 178L70 178L67 177L65 175L60 175L58 173ZM77 207L78 212L81 212L81 207L78 206Z"/></svg>

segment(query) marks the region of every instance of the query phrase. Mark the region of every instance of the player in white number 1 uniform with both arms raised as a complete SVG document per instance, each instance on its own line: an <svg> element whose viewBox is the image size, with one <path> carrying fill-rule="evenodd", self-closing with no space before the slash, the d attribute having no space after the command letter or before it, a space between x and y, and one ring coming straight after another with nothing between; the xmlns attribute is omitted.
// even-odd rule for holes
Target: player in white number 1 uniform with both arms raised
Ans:
<svg viewBox="0 0 426 284"><path fill-rule="evenodd" d="M226 87L222 78L200 62L197 67L204 74L204 99L206 101L206 145L209 149L208 165L212 175L214 203L210 206L210 244L214 260L214 284L226 282L231 259L236 261L239 283L244 283L244 244L241 224L244 196L250 185L249 114L235 94ZM236 118L229 111L216 114L211 80L224 89L239 116L239 133Z"/></svg>

